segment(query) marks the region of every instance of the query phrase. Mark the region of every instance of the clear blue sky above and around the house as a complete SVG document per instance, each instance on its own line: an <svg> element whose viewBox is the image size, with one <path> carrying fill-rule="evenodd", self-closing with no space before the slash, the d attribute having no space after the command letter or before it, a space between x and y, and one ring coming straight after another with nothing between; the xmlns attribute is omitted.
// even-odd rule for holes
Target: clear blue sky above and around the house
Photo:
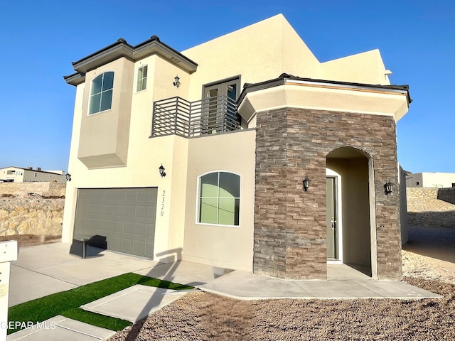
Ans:
<svg viewBox="0 0 455 341"><path fill-rule="evenodd" d="M0 168L67 170L71 62L120 37L137 45L156 35L185 50L277 13L321 62L378 48L390 82L410 85L414 100L397 124L403 168L455 172L452 0L2 1Z"/></svg>

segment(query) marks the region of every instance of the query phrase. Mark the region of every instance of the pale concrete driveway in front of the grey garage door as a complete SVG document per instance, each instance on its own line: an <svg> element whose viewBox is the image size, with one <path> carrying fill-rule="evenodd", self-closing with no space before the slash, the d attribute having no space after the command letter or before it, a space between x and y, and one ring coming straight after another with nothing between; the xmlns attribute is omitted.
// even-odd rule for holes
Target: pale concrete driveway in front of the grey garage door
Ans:
<svg viewBox="0 0 455 341"><path fill-rule="evenodd" d="M215 268L202 264L162 264L94 247L82 259L69 250L66 243L21 247L18 260L11 262L9 306L128 272L193 286L218 276Z"/></svg>

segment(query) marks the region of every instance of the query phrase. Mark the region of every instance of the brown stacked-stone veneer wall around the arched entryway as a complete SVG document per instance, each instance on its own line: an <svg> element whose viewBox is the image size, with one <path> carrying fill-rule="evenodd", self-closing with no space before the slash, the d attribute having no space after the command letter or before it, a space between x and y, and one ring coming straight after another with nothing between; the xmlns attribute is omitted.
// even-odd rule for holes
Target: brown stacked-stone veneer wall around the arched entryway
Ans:
<svg viewBox="0 0 455 341"><path fill-rule="evenodd" d="M393 117L284 108L257 113L253 271L278 278L326 278L326 155L360 148L373 158L380 279L400 279L398 183ZM302 190L308 174L311 188Z"/></svg>

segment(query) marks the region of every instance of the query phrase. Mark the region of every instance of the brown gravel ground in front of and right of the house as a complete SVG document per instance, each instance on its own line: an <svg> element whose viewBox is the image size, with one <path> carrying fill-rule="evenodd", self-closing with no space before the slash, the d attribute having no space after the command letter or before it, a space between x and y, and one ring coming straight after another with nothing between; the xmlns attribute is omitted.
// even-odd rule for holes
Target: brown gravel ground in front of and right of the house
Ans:
<svg viewBox="0 0 455 341"><path fill-rule="evenodd" d="M239 301L194 291L109 341L455 340L455 270L450 272L454 263L444 256L455 255L455 245L446 242L446 233L455 231L443 232L435 238L430 231L433 242L426 243L410 234L410 247L403 251L403 272L412 276L404 280L440 299ZM435 243L439 246L432 247ZM441 245L447 249L441 251Z"/></svg>

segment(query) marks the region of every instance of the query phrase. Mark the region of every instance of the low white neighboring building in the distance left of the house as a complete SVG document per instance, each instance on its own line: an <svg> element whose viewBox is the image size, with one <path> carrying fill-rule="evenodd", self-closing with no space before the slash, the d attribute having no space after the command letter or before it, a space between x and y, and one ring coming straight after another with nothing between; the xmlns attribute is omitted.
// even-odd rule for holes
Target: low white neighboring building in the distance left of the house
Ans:
<svg viewBox="0 0 455 341"><path fill-rule="evenodd" d="M27 183L27 182L52 182L65 183L64 171L41 171L41 168L33 169L20 167L0 168L0 183Z"/></svg>

